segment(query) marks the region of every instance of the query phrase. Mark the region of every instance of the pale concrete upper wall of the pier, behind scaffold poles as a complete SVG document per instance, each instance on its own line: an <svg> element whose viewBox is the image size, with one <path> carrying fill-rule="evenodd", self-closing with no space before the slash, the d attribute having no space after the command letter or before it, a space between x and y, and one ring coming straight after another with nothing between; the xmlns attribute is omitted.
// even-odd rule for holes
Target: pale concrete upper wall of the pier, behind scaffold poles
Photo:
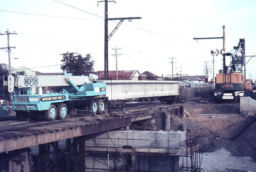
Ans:
<svg viewBox="0 0 256 172"><path fill-rule="evenodd" d="M186 132L111 131L109 137L116 147L134 145L134 148L176 149L185 145ZM114 147L105 132L90 134L85 138L85 147L107 147L108 142L109 147Z"/></svg>

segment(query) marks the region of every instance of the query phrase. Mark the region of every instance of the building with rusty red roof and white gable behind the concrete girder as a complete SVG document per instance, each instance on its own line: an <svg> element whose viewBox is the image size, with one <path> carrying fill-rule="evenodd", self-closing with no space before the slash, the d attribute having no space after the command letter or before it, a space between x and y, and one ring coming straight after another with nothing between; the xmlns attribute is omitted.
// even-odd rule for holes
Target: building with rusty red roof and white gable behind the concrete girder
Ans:
<svg viewBox="0 0 256 172"><path fill-rule="evenodd" d="M96 74L99 76L99 80L104 79L104 71L98 70ZM141 74L138 70L118 70L118 80L138 80L141 77ZM108 71L109 79L116 79L116 71Z"/></svg>

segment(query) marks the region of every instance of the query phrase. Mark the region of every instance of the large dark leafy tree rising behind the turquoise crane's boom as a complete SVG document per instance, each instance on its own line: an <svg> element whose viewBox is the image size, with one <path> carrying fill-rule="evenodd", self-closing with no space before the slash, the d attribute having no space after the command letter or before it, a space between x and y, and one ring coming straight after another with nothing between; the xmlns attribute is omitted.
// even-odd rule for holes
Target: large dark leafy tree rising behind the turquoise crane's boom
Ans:
<svg viewBox="0 0 256 172"><path fill-rule="evenodd" d="M82 54L74 56L76 53L63 53L63 59L61 60L63 65L60 66L63 72L71 73L72 75L87 75L94 72L94 61L91 59L91 54L86 54L82 57Z"/></svg>

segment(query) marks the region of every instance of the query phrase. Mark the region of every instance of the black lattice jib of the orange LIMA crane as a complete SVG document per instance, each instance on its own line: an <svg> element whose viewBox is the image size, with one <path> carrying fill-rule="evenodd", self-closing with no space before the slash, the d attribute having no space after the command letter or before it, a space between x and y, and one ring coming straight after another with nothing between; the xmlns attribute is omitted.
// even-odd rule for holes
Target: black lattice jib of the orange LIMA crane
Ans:
<svg viewBox="0 0 256 172"><path fill-rule="evenodd" d="M232 57L232 61L230 64L231 70L239 73L243 72L244 66L244 57L245 57L245 47L244 47L244 39L239 39L239 43L234 47L235 53Z"/></svg>

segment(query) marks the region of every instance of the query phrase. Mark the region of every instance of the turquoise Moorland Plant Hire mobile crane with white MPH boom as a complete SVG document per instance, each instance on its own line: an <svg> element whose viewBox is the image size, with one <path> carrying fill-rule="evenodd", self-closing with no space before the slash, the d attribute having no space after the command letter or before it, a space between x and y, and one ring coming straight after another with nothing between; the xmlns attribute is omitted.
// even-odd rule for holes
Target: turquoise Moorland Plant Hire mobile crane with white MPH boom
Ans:
<svg viewBox="0 0 256 172"><path fill-rule="evenodd" d="M97 79L94 74L5 75L3 110L15 111L20 121L41 115L47 121L63 120L74 109L103 114L108 102L106 83Z"/></svg>

